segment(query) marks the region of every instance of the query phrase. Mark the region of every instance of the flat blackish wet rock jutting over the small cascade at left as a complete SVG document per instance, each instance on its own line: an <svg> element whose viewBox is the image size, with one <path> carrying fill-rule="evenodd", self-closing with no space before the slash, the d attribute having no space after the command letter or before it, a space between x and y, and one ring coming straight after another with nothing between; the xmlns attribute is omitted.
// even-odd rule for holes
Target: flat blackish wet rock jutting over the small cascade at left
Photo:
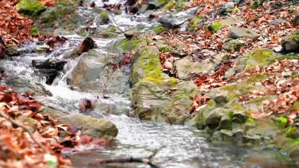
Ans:
<svg viewBox="0 0 299 168"><path fill-rule="evenodd" d="M61 70L63 70L64 64L66 63L66 61L49 58L47 60L36 60L35 59L35 60L32 60L31 63L32 63L32 66L37 69L55 69L55 70L61 71Z"/></svg>

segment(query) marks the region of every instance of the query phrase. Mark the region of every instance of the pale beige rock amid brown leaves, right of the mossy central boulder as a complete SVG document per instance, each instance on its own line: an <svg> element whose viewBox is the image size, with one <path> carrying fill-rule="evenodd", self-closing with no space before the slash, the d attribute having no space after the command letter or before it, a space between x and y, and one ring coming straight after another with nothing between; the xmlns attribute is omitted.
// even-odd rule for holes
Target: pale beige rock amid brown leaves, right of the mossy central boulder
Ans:
<svg viewBox="0 0 299 168"><path fill-rule="evenodd" d="M183 57L174 63L174 69L178 73L179 79L187 79L190 73L203 73L208 74L214 71L215 67L225 58L225 55L217 55L210 62L192 62L189 56ZM208 59L207 59L208 61Z"/></svg>

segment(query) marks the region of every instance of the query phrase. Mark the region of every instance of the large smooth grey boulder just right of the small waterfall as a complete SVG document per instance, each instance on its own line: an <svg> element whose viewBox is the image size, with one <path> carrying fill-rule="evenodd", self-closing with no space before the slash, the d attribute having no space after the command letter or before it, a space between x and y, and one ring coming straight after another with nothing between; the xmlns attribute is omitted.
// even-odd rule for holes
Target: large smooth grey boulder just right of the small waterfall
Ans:
<svg viewBox="0 0 299 168"><path fill-rule="evenodd" d="M129 87L128 67L113 68L113 64L120 62L122 56L104 55L96 49L82 54L68 76L67 84L86 91L123 93Z"/></svg>

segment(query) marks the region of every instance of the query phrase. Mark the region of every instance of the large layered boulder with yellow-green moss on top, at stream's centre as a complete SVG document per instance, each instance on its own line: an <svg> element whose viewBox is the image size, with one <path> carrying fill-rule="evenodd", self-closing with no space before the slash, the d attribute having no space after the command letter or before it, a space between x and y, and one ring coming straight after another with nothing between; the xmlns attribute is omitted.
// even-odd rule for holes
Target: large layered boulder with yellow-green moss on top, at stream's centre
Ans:
<svg viewBox="0 0 299 168"><path fill-rule="evenodd" d="M162 73L157 47L140 49L132 56L130 83L133 85L134 115L141 119L183 124L192 97L198 87L192 83L178 84L175 78ZM173 94L167 91L179 87Z"/></svg>

